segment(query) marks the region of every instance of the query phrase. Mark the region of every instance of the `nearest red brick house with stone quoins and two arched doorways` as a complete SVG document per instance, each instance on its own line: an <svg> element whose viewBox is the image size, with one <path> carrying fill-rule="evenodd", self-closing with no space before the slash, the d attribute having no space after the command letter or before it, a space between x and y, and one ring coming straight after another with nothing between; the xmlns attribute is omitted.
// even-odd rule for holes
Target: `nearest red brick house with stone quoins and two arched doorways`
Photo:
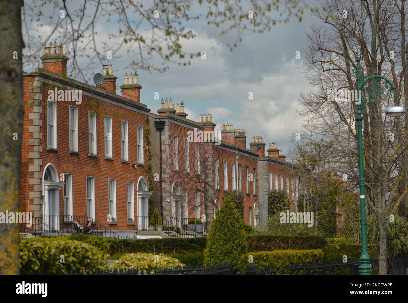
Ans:
<svg viewBox="0 0 408 303"><path fill-rule="evenodd" d="M61 43L46 46L41 60L23 76L22 209L42 228L70 228L77 216L115 232L143 228L150 110L140 103L137 75L125 75L120 96L112 65L97 87L67 77Z"/></svg>

